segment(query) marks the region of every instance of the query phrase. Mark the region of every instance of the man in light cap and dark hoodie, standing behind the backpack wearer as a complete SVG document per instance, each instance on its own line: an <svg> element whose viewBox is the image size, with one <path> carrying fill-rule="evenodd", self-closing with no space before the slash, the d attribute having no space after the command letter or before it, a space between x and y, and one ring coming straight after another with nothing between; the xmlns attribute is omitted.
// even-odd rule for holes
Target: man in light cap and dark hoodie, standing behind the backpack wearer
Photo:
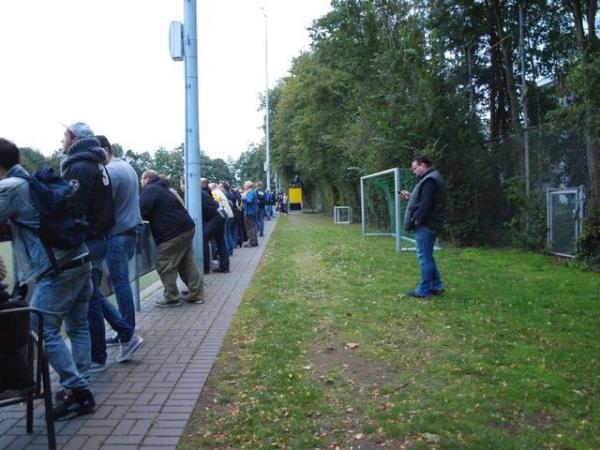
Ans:
<svg viewBox="0 0 600 450"><path fill-rule="evenodd" d="M102 305L106 298L100 291L102 264L108 250L108 233L115 224L112 187L104 162L106 152L94 136L89 125L76 122L66 127L62 140L66 155L61 162L62 176L76 188L75 203L81 208L90 224L91 232L86 239L92 262L93 292L88 310L90 337L92 340L92 365L90 372L106 370L106 328ZM113 321L124 334L133 335L133 329L119 315L119 323Z"/></svg>

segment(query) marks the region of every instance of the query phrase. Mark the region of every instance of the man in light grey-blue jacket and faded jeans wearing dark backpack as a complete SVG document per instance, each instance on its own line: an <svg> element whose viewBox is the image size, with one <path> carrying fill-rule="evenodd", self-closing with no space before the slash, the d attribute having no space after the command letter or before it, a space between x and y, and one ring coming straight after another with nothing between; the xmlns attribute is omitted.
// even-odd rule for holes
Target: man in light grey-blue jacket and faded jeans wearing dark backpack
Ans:
<svg viewBox="0 0 600 450"><path fill-rule="evenodd" d="M0 222L8 221L11 227L16 284L35 283L30 304L44 314L48 360L62 385L55 396L54 418L64 420L91 413L95 406L88 375L91 264L83 239L63 249L42 242L42 231L47 231L41 229L44 205L36 205L30 179L20 165L18 147L0 138ZM71 350L60 334L63 322Z"/></svg>

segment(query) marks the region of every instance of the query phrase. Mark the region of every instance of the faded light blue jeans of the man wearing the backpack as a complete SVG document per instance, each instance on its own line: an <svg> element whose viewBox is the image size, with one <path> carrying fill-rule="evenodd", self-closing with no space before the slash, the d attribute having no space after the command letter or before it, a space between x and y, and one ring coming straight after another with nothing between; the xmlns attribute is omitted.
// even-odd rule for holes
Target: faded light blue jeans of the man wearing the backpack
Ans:
<svg viewBox="0 0 600 450"><path fill-rule="evenodd" d="M44 313L44 342L48 360L67 389L90 384L90 330L87 314L92 282L90 264L49 274L35 283L31 306ZM71 351L60 335L60 327L71 341Z"/></svg>

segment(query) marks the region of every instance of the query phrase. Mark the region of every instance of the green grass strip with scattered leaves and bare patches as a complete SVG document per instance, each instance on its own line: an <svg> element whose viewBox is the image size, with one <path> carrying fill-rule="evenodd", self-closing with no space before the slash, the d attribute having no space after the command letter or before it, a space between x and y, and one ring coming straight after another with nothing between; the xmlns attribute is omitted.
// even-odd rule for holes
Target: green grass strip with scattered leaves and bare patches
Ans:
<svg viewBox="0 0 600 450"><path fill-rule="evenodd" d="M282 217L180 449L600 448L600 276Z"/></svg>

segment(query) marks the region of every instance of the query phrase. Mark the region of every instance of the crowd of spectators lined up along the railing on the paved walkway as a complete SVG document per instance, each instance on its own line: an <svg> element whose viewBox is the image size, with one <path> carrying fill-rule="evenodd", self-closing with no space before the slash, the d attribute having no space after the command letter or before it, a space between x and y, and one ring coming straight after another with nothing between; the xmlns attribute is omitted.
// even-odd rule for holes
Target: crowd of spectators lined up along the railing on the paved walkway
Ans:
<svg viewBox="0 0 600 450"><path fill-rule="evenodd" d="M37 173L21 166L17 145L0 138L0 223L9 230L15 263L15 288L9 294L0 285L0 302L19 299L43 313L48 359L61 384L54 398L56 420L94 410L90 375L107 370L107 347L119 347L115 363L122 363L143 344L136 332L129 273L143 220L156 244L155 268L164 287L155 305L205 300L192 245L196 227L169 178L153 170L138 178L130 164L113 155L109 140L83 122L65 127L62 150L60 175L49 175L70 190L69 220L85 226L85 234L80 242L59 246L47 239L52 217L42 213L32 187ZM258 246L265 220L275 209L286 212L285 196L273 195L260 182L246 181L238 189L202 179L201 185L202 269L204 274L227 273L236 249ZM185 195L185 185L179 187ZM104 268L116 304L101 290ZM178 278L186 285L181 291ZM108 337L107 323L113 330Z"/></svg>

